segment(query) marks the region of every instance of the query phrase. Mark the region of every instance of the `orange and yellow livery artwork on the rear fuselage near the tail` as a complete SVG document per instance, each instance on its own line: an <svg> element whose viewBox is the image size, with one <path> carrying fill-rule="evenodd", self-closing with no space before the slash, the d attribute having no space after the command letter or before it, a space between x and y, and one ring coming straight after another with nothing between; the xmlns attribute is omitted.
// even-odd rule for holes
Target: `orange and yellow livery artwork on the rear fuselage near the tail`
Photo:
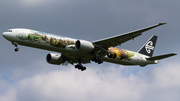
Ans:
<svg viewBox="0 0 180 101"><path fill-rule="evenodd" d="M130 57L134 56L134 53L131 51L121 50L114 47L110 47L109 51L110 51L110 53L108 54L109 58L122 60L122 59L129 59Z"/></svg>

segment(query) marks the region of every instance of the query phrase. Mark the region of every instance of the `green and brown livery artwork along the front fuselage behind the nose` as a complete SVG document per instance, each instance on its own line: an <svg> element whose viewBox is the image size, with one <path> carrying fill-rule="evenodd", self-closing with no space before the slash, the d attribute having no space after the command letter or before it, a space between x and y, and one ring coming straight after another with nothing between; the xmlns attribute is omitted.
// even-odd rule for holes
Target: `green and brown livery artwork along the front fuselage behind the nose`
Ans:
<svg viewBox="0 0 180 101"><path fill-rule="evenodd" d="M60 47L60 48L65 48L68 45L75 44L74 40L69 40L65 38L60 38L58 36L52 36L50 34L44 34L38 32L33 32L28 35L25 33L19 33L16 35L16 37L19 38L20 40L29 40L32 42L46 42L51 46Z"/></svg>

